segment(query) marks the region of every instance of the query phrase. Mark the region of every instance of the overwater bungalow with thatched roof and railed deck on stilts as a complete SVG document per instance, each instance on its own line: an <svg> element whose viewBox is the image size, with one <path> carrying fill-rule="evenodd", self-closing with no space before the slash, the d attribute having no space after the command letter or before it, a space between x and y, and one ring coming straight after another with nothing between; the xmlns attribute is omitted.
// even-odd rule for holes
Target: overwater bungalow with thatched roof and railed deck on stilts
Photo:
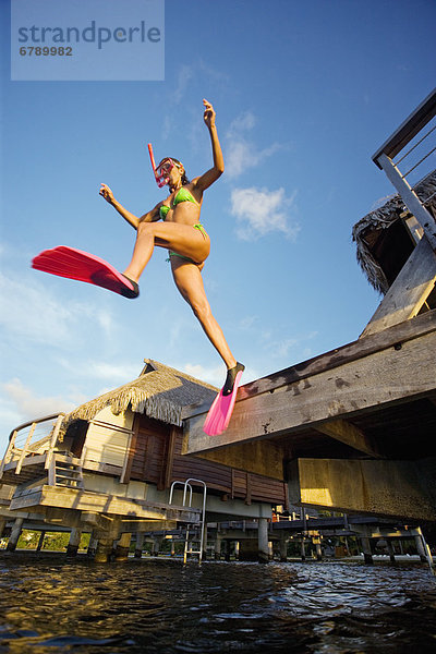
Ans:
<svg viewBox="0 0 436 654"><path fill-rule="evenodd" d="M137 379L68 415L14 429L0 468L0 516L17 519L10 549L23 519L47 529L92 530L102 560L122 534L120 547L125 548L133 533L180 524L204 529L207 522L231 519L266 521L272 506L287 506L280 462L256 460L255 449L247 451L255 469L251 473L183 456L183 407L210 403L216 392L146 360Z"/></svg>

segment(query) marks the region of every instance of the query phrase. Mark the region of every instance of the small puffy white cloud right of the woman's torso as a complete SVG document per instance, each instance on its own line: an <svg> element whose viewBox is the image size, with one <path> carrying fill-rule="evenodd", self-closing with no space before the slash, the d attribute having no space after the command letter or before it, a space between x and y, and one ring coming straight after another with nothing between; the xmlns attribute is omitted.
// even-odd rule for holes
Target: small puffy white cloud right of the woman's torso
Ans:
<svg viewBox="0 0 436 654"><path fill-rule="evenodd" d="M291 219L296 193L287 197L284 189L233 189L231 193L231 214L238 220L238 237L252 241L270 232L282 232L288 239L295 240L299 225Z"/></svg>

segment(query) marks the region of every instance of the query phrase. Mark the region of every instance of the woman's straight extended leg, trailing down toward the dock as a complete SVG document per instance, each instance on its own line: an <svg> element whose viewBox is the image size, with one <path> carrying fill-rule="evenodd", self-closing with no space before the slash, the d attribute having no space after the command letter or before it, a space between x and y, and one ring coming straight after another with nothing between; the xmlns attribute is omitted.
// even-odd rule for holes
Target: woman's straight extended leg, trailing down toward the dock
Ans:
<svg viewBox="0 0 436 654"><path fill-rule="evenodd" d="M198 318L207 338L227 367L233 368L237 365L237 360L230 351L222 329L211 314L199 267L178 257L172 257L171 268L177 288Z"/></svg>

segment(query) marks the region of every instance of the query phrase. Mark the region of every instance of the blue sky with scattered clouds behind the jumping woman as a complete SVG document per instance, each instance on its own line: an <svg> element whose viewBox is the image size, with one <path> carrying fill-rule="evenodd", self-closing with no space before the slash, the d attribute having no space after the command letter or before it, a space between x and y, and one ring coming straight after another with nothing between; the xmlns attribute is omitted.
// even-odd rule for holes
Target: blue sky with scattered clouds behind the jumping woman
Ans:
<svg viewBox="0 0 436 654"><path fill-rule="evenodd" d="M136 301L29 267L41 250L71 245L123 269L134 231L99 185L137 215L164 198L149 141L157 159L205 171L204 97L226 161L203 204L213 242L204 280L243 379L359 337L379 298L351 229L393 192L371 156L434 86L434 0L167 0L162 82L11 82L9 4L1 449L16 424L133 379L144 358L222 384L164 250Z"/></svg>

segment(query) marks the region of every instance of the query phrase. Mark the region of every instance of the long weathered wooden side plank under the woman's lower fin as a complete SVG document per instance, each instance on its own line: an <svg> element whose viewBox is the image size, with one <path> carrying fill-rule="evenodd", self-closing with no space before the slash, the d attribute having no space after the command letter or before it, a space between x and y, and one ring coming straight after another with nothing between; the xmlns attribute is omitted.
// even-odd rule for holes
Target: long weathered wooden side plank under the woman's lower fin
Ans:
<svg viewBox="0 0 436 654"><path fill-rule="evenodd" d="M220 436L209 437L203 432L204 414L186 419L187 453L288 435L330 419L346 419L425 397L436 388L435 368L434 327L396 348L348 360L335 370L238 401L230 425Z"/></svg>

